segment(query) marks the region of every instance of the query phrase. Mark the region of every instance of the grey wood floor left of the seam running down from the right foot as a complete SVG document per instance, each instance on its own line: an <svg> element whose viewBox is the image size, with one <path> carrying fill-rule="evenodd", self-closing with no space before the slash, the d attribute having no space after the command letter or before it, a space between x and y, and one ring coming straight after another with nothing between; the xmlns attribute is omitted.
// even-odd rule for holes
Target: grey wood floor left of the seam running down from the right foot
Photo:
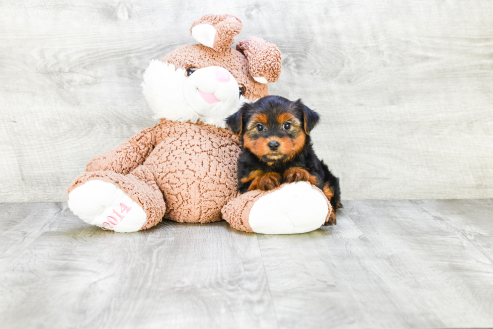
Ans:
<svg viewBox="0 0 493 329"><path fill-rule="evenodd" d="M66 203L0 212L3 328L277 326L256 235L224 221L115 234Z"/></svg>

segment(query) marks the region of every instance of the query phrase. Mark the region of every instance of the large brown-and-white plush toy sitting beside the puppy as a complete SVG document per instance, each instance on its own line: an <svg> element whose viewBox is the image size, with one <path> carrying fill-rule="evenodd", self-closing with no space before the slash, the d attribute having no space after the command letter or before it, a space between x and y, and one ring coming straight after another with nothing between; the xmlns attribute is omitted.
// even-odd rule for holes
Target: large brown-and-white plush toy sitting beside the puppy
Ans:
<svg viewBox="0 0 493 329"><path fill-rule="evenodd" d="M150 228L163 218L265 234L319 228L331 204L307 182L239 194L241 145L225 119L244 102L269 95L281 73L279 49L258 37L231 48L242 22L204 15L192 24L199 44L151 60L143 95L159 123L91 159L68 188L70 210L115 232Z"/></svg>

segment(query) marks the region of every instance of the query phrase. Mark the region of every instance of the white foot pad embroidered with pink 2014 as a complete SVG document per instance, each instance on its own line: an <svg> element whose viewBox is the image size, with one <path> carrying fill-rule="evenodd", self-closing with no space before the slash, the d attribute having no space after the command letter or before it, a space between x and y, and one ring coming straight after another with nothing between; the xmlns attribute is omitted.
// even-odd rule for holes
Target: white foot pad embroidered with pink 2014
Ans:
<svg viewBox="0 0 493 329"><path fill-rule="evenodd" d="M68 194L68 207L86 223L114 230L135 232L144 225L145 211L112 183L93 180Z"/></svg>

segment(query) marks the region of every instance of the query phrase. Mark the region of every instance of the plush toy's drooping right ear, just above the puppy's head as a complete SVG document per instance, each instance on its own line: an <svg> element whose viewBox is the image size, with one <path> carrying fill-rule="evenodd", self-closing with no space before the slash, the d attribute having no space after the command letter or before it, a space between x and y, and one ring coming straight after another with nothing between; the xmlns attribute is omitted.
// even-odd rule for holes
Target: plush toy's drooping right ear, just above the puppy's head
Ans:
<svg viewBox="0 0 493 329"><path fill-rule="evenodd" d="M250 74L261 84L276 82L281 74L281 51L272 43L257 37L241 40L236 50L248 59Z"/></svg>

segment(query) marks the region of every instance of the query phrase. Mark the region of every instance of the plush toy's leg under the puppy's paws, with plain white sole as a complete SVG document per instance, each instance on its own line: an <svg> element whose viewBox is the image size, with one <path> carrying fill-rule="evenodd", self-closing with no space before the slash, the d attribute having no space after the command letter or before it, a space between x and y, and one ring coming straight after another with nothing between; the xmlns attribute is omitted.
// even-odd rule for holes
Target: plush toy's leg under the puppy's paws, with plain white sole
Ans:
<svg viewBox="0 0 493 329"><path fill-rule="evenodd" d="M263 234L305 233L330 221L332 206L323 192L308 182L241 194L222 209L234 228Z"/></svg>

